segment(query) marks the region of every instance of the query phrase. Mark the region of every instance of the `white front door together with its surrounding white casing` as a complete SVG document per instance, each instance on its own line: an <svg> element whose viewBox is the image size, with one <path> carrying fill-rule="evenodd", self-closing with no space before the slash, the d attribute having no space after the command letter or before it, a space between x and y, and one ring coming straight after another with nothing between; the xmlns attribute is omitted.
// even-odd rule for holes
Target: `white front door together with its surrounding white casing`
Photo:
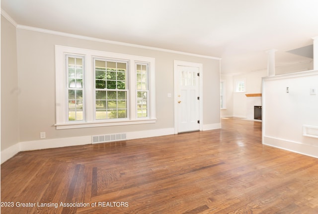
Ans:
<svg viewBox="0 0 318 214"><path fill-rule="evenodd" d="M174 129L202 130L202 64L174 61Z"/></svg>

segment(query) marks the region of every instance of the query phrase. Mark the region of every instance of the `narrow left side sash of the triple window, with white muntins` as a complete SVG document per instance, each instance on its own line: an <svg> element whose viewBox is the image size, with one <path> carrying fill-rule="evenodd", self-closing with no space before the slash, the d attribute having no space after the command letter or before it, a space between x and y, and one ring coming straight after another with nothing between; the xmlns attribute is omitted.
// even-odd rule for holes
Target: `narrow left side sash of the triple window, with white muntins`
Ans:
<svg viewBox="0 0 318 214"><path fill-rule="evenodd" d="M83 71L84 58L66 56L67 60L67 100L68 120L83 120Z"/></svg>

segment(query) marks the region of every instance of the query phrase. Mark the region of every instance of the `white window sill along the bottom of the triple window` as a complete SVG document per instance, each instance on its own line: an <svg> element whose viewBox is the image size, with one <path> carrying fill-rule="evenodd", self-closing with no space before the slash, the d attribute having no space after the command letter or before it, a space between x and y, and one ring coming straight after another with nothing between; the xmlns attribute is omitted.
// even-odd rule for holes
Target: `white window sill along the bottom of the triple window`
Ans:
<svg viewBox="0 0 318 214"><path fill-rule="evenodd" d="M56 129L71 129L71 128L89 128L101 126L115 126L115 125L133 125L133 124L146 124L155 123L157 119L139 119L139 120L120 120L120 121L94 121L94 122L81 122L81 123L64 123L55 124Z"/></svg>

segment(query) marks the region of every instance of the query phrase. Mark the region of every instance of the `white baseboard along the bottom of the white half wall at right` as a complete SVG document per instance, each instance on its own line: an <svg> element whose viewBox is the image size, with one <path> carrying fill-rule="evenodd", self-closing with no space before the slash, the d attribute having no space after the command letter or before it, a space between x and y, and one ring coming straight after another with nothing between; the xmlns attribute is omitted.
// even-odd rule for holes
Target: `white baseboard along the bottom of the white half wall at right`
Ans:
<svg viewBox="0 0 318 214"><path fill-rule="evenodd" d="M268 136L263 136L263 144L318 158L318 146Z"/></svg>

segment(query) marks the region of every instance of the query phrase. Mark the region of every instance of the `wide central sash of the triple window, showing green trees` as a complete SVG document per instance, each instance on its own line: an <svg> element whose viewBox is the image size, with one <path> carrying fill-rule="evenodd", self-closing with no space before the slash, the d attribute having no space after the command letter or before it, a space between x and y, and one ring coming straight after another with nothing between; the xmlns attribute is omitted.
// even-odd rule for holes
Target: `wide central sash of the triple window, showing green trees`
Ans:
<svg viewBox="0 0 318 214"><path fill-rule="evenodd" d="M94 60L95 118L127 118L127 62Z"/></svg>

